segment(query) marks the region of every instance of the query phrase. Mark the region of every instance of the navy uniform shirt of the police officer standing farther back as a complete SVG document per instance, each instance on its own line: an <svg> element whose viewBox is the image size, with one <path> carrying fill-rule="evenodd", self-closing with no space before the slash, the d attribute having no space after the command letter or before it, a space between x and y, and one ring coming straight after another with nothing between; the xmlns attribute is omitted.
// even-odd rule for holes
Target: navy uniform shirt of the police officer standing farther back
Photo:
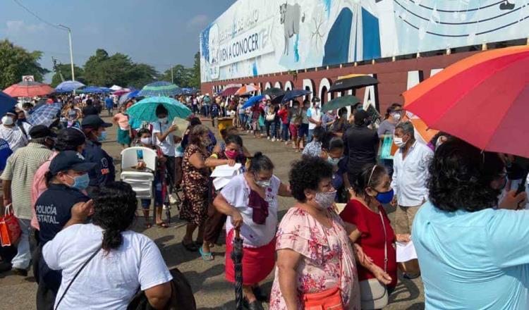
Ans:
<svg viewBox="0 0 529 310"><path fill-rule="evenodd" d="M90 176L90 186L104 186L116 179L114 160L101 147L101 143L87 140L83 151L85 160L90 163L97 163L97 166L88 172Z"/></svg>

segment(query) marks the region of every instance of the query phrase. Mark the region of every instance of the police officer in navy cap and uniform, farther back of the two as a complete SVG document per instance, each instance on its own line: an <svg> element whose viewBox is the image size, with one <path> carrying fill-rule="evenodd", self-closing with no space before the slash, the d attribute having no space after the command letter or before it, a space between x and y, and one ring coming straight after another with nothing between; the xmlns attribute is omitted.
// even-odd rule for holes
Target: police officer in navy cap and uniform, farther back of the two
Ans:
<svg viewBox="0 0 529 310"><path fill-rule="evenodd" d="M89 115L83 118L81 127L86 136L85 156L86 161L96 163L90 173L90 185L87 188L88 195L97 187L103 187L116 178L116 170L114 168L114 160L101 147L101 142L107 139L107 131L105 128L111 127L112 124L105 123L97 115Z"/></svg>

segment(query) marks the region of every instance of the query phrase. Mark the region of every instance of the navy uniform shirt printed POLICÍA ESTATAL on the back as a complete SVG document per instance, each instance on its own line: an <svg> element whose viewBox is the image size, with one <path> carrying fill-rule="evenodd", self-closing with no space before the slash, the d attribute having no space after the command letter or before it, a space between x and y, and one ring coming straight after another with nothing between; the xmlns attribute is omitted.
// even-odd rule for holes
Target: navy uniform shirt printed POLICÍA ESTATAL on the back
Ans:
<svg viewBox="0 0 529 310"><path fill-rule="evenodd" d="M78 202L87 202L85 194L63 184L50 184L35 202L39 221L39 239L43 244L53 239L71 218L71 209Z"/></svg>

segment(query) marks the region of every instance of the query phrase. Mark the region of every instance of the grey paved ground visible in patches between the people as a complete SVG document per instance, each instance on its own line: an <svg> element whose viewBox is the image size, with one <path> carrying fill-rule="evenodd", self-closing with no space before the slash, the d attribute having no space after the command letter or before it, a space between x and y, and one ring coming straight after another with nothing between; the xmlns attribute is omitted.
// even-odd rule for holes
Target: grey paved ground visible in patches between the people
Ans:
<svg viewBox="0 0 529 310"><path fill-rule="evenodd" d="M118 159L121 147L115 142L116 133L113 128L109 129L109 141L104 143L104 149L111 156ZM286 147L281 142L270 142L269 140L254 140L250 135L243 135L245 147L250 151L263 151L276 165L274 173L284 182L288 181L288 171L293 160L299 154ZM117 162L117 161L116 161ZM286 213L286 209L293 205L293 199L279 198L280 216ZM171 210L171 227L143 229L143 220L138 218L136 230L144 233L154 240L162 251L162 255L169 267L178 266L180 271L190 281L198 309L234 309L233 287L224 280L224 245L215 246L215 259L212 262L202 261L197 253L187 252L181 246L181 240L185 231L185 223L178 221L178 209ZM388 210L390 218L394 216L394 210ZM224 243L224 240L219 240ZM31 272L30 272L31 274ZM263 287L270 290L272 286L273 273L267 278ZM2 309L29 310L35 309L35 292L37 285L31 277L21 278L11 273L0 273L0 301ZM390 297L389 306L384 309L424 309L424 294L422 282L417 280L404 280L399 278L399 285Z"/></svg>

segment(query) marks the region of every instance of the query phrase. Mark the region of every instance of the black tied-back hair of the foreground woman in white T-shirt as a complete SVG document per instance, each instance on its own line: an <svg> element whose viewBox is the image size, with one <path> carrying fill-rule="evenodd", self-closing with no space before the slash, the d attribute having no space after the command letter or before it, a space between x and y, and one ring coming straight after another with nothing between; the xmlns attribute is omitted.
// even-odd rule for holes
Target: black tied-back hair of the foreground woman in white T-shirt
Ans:
<svg viewBox="0 0 529 310"><path fill-rule="evenodd" d="M121 233L128 230L136 218L136 193L125 182L101 187L94 198L92 223L103 228L102 249L110 252L123 244Z"/></svg>

